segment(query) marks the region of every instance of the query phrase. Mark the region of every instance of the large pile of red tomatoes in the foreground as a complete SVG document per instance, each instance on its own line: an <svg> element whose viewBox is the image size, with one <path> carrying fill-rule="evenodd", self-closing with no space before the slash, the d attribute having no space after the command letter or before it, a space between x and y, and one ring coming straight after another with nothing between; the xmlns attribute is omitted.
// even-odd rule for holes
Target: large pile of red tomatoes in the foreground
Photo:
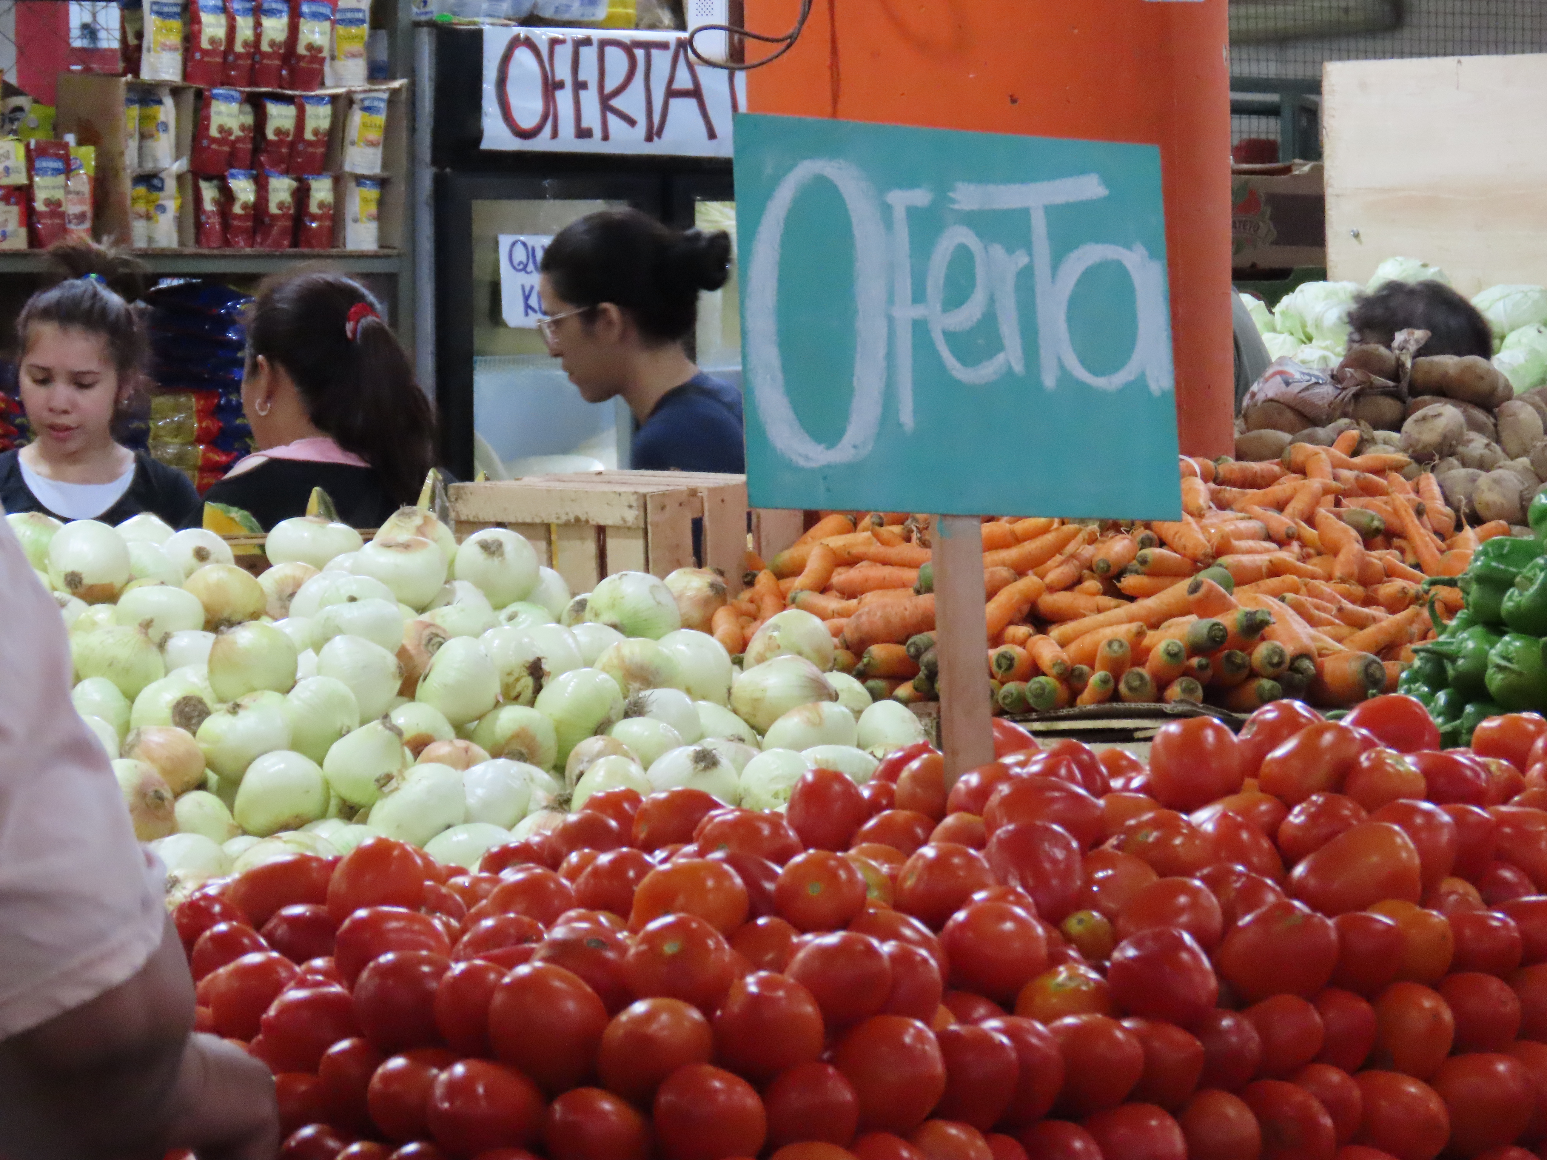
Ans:
<svg viewBox="0 0 1547 1160"><path fill-rule="evenodd" d="M950 790L924 745L786 814L611 790L175 917L289 1160L1547 1157L1547 721L1437 744L1402 696L1148 766L996 722Z"/></svg>

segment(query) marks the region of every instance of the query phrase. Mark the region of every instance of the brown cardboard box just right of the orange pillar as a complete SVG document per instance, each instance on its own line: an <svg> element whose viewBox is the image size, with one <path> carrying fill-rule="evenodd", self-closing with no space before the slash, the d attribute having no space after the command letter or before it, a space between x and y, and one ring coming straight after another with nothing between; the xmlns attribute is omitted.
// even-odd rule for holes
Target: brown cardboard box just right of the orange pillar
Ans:
<svg viewBox="0 0 1547 1160"><path fill-rule="evenodd" d="M1320 161L1236 165L1230 172L1230 204L1236 271L1327 264L1327 200Z"/></svg>

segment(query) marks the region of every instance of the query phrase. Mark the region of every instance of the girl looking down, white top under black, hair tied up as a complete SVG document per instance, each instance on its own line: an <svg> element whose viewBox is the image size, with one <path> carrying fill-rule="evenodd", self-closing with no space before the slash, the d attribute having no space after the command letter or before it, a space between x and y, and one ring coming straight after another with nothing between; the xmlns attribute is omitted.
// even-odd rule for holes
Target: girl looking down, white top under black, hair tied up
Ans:
<svg viewBox="0 0 1547 1160"><path fill-rule="evenodd" d="M198 521L189 478L113 438L144 385L145 326L133 305L145 269L71 238L50 247L56 281L17 319L17 380L32 442L0 455L0 504L118 524L150 512Z"/></svg>

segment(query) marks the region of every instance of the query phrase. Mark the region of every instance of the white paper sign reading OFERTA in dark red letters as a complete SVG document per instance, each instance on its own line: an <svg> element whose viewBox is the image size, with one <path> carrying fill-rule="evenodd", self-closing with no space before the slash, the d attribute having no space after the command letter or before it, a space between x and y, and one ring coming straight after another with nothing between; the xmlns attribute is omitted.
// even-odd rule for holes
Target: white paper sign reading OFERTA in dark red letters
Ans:
<svg viewBox="0 0 1547 1160"><path fill-rule="evenodd" d="M483 148L729 158L741 74L685 32L487 26Z"/></svg>

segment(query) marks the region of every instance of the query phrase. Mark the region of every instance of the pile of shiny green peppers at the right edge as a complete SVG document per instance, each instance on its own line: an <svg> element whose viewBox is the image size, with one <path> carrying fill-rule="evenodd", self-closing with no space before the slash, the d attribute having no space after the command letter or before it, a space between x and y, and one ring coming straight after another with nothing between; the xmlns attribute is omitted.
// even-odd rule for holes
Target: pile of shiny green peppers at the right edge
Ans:
<svg viewBox="0 0 1547 1160"><path fill-rule="evenodd" d="M1397 688L1428 705L1446 745L1468 744L1487 718L1547 711L1547 495L1530 521L1530 540L1488 540L1465 574L1423 585L1459 585L1465 609L1450 625L1436 619L1439 639L1414 648Z"/></svg>

